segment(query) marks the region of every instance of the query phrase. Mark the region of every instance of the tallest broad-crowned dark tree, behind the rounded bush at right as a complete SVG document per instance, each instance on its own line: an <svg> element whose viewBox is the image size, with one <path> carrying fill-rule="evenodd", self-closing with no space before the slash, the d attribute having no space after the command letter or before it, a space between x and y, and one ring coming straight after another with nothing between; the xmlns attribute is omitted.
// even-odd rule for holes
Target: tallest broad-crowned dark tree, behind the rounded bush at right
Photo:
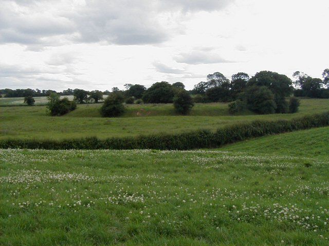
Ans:
<svg viewBox="0 0 329 246"><path fill-rule="evenodd" d="M274 94L276 113L287 113L288 104L286 96L293 92L292 81L286 75L271 71L261 71L252 76L247 86L265 86Z"/></svg>

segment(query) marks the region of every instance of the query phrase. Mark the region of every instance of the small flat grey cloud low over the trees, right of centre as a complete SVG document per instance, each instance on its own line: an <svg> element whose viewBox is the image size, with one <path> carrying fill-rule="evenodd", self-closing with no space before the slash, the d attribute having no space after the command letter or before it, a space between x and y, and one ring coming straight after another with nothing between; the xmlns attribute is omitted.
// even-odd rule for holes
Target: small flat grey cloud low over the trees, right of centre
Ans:
<svg viewBox="0 0 329 246"><path fill-rule="evenodd" d="M177 63L185 63L191 65L213 64L213 63L232 63L233 61L226 60L220 55L204 51L192 51L190 53L180 53L176 56Z"/></svg>

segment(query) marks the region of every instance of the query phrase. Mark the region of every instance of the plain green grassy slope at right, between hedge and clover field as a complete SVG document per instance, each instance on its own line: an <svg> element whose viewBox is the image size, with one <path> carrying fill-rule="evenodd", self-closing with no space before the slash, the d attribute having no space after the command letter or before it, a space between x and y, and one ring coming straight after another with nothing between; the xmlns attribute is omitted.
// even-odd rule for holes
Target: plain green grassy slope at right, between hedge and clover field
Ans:
<svg viewBox="0 0 329 246"><path fill-rule="evenodd" d="M324 158L329 156L329 127L249 139L218 150Z"/></svg>

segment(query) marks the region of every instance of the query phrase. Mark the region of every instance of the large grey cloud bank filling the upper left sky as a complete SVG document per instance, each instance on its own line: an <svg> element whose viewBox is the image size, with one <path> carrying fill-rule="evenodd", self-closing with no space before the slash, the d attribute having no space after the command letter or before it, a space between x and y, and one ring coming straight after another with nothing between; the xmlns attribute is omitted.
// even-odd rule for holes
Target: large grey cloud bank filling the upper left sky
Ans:
<svg viewBox="0 0 329 246"><path fill-rule="evenodd" d="M179 33L179 23L176 29L160 23L162 13L220 10L229 2L0 0L0 43L22 44L30 50L67 43L159 44Z"/></svg>

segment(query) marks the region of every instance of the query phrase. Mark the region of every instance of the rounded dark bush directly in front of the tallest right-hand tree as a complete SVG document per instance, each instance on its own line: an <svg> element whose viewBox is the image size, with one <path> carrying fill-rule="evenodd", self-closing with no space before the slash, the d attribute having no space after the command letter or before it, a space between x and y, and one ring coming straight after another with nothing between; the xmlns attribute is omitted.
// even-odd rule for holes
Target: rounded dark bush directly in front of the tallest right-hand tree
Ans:
<svg viewBox="0 0 329 246"><path fill-rule="evenodd" d="M273 114L277 105L275 95L266 86L250 86L243 95L248 109L259 114Z"/></svg>

